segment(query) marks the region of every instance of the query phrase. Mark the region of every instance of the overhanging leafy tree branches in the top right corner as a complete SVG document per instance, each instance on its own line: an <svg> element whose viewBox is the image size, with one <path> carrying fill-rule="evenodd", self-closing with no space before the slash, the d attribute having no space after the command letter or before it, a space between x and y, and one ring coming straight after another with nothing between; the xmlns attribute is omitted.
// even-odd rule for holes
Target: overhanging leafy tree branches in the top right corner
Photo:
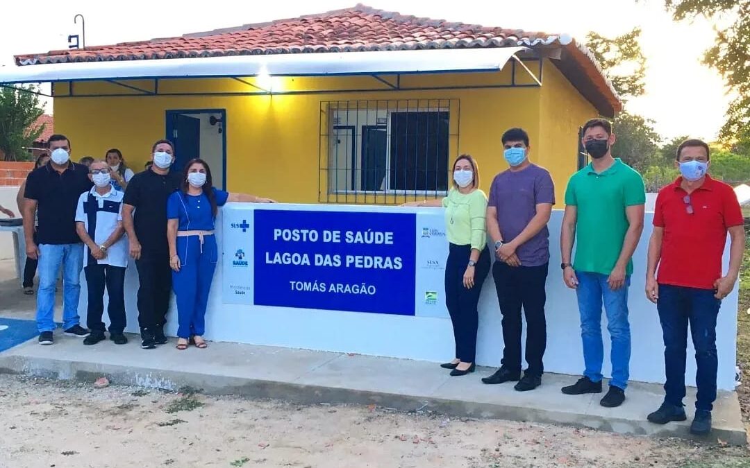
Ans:
<svg viewBox="0 0 750 468"><path fill-rule="evenodd" d="M705 16L715 23L715 45L703 63L721 73L736 98L727 109L721 139L750 151L750 0L664 0L676 21Z"/></svg>

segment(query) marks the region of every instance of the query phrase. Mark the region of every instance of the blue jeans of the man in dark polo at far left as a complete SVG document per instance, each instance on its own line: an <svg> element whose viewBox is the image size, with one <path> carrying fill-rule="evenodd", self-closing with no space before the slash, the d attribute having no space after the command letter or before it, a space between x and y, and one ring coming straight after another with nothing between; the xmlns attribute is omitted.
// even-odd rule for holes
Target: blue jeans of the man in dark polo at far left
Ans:
<svg viewBox="0 0 750 468"><path fill-rule="evenodd" d="M62 328L69 329L80 322L78 299L81 294L80 277L83 269L83 243L39 245L39 289L37 291L37 329L55 329L55 283L62 266Z"/></svg>

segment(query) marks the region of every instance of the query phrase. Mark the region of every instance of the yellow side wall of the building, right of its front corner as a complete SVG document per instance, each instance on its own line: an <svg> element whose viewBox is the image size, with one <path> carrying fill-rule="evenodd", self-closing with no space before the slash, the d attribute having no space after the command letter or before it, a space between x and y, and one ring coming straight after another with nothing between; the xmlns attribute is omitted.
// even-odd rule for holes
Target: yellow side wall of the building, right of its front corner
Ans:
<svg viewBox="0 0 750 468"><path fill-rule="evenodd" d="M540 102L540 134L534 153L552 174L556 208L562 208L568 178L577 170L578 128L598 117L598 112L550 61L544 63Z"/></svg>

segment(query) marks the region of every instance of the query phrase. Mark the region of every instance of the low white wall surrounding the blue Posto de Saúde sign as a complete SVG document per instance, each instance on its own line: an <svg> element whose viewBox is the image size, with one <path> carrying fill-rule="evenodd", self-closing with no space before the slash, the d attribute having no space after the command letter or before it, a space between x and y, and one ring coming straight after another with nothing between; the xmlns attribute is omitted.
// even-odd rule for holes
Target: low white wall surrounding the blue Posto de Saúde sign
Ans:
<svg viewBox="0 0 750 468"><path fill-rule="evenodd" d="M228 239L232 242L243 242L250 259L247 279L252 285L253 279L253 229L241 240L226 233L226 226L251 219L254 210L302 210L302 211L341 211L341 212L385 212L385 213L419 213L417 228L422 222L440 225L443 222L443 210L427 208L398 207L351 207L330 205L256 205L228 204L217 219L217 240L222 252L222 244ZM223 217L223 219L222 219ZM628 300L630 309L632 353L631 380L660 383L664 381L663 342L661 326L655 306L646 300L645 289L646 246L651 233L652 213L646 213L646 227L643 237L634 255L635 270L631 279ZM550 270L547 277L547 352L544 355L546 371L564 374L581 374L583 371L583 353L580 343L580 320L576 295L565 288L559 270L560 258L557 248L562 211L555 210L550 220ZM239 232L239 231L237 231ZM225 234L230 234L226 236ZM419 237L419 233L417 233ZM431 241L434 244L434 239ZM418 243L419 245L419 243ZM442 247L441 247L442 246ZM443 306L442 272L425 267L424 262L430 258L442 258L439 265L444 265L447 245L441 242L436 249L431 248L428 257L425 252L416 254L417 285L416 315L394 315L383 313L340 312L320 309L295 309L290 307L240 305L226 302L226 290L229 279L224 271L226 262L236 259L236 246L225 249L223 260L225 268L217 266L209 298L206 317L205 337L215 341L236 341L251 344L266 344L283 347L297 347L314 350L329 350L349 353L371 354L376 356L393 356L407 359L425 359L443 362L452 359L454 353L453 335L450 320ZM420 263L423 262L423 263ZM726 266L727 252L724 265ZM425 267L425 268L423 268ZM440 268L440 266L438 267ZM231 271L231 270L228 270ZM384 273L385 274L385 273ZM426 279L420 283L420 278ZM82 300L80 314L86 318L86 285L82 276ZM136 291L138 280L134 265L127 271L126 309L127 330L137 332ZM252 288L252 287L250 287ZM433 305L433 312L419 303L424 297L420 288L436 288L440 291L440 300ZM253 291L248 291L252 294ZM404 294L403 291L391 291L391 294ZM410 293L408 293L410 294ZM250 296L252 297L252 296ZM368 300L363 297L363 300ZM736 350L736 314L737 291L733 291L721 307L716 329L718 347L718 387L734 389L734 368ZM437 308L437 309L435 309ZM487 278L481 293L479 305L479 333L477 343L477 363L479 365L498 366L502 356L501 314L497 305L496 293L491 275ZM177 329L174 300L169 312L169 323L166 330L174 335ZM606 330L606 317L602 317L604 334L604 374L610 374L609 336ZM525 339L525 338L524 338ZM689 341L689 340L688 340ZM694 385L695 363L694 350L691 344L688 349L688 363L685 378L689 385Z"/></svg>

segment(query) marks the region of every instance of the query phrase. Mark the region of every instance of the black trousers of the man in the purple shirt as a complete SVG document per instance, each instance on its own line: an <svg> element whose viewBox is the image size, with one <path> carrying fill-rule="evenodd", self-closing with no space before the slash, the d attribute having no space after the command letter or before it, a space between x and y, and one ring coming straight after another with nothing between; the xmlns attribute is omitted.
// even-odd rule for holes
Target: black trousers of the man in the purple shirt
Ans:
<svg viewBox="0 0 750 468"><path fill-rule="evenodd" d="M544 304L547 294L544 283L547 281L549 264L538 267L509 267L496 261L492 276L495 280L497 300L502 313L502 367L509 371L520 371L520 335L523 328L520 311L526 315L526 374L544 373L544 350L547 347L547 320L544 318Z"/></svg>

